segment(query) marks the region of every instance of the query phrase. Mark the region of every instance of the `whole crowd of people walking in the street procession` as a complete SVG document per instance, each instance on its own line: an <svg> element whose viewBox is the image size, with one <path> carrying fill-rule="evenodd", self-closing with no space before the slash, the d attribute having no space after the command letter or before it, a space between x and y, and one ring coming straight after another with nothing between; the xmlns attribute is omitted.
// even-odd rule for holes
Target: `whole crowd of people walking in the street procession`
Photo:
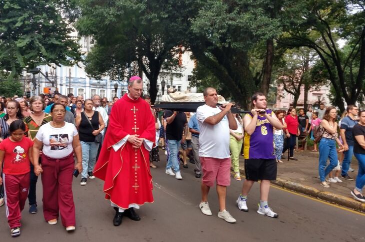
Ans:
<svg viewBox="0 0 365 242"><path fill-rule="evenodd" d="M325 188L341 179L353 180L348 172L354 155L359 166L351 195L365 202L361 194L365 111L355 105L347 106L337 124L333 106L320 104L306 113L294 107L274 112L267 109L262 93L253 94L252 110L240 115L231 113L232 103L218 107L216 90L210 87L204 89L205 105L196 113L156 109L148 95L141 98L142 92L143 82L134 76L128 93L111 102L99 95L84 100L59 93L0 97L0 206L6 206L12 237L20 235L26 199L28 213L37 213L39 175L43 216L49 225L55 225L60 215L66 231L75 230L71 184L72 175L78 174L81 186L95 177L104 181L105 198L115 210L114 226L121 224L123 216L140 220L135 209L153 202L150 168L160 161L159 149L165 150L165 173L175 179L183 179L180 165L194 165L195 177L201 179L199 208L204 215L212 215L207 198L216 184L217 216L228 223L236 220L225 208L226 190L230 169L235 180L242 180L240 155L245 180L236 201L238 209L248 212L248 193L260 180L257 213L278 217L268 206L270 181L276 180L277 164L284 162L286 150L288 159L297 160L297 137L311 139L313 152L319 151L318 175Z"/></svg>

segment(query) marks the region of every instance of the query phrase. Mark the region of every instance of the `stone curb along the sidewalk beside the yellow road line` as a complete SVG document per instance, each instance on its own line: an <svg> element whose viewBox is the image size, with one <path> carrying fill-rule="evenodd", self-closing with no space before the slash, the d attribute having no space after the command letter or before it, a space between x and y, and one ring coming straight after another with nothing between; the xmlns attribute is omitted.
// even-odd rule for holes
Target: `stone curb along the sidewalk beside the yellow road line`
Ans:
<svg viewBox="0 0 365 242"><path fill-rule="evenodd" d="M239 173L244 175L244 170L240 168ZM271 181L271 184L274 184L278 187L287 190L302 193L316 199L324 200L329 203L337 204L340 206L344 206L365 213L365 204L358 202L352 198L347 198L331 192L319 191L318 189L309 186L304 186L299 183L290 182L280 178L277 178L276 181Z"/></svg>

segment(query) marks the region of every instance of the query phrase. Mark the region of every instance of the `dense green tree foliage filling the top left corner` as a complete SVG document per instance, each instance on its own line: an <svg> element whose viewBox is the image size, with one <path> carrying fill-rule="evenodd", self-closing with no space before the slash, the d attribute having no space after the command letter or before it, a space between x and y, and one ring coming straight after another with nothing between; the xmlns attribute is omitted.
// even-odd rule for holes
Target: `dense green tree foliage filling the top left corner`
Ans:
<svg viewBox="0 0 365 242"><path fill-rule="evenodd" d="M0 1L0 67L15 79L23 68L80 60L77 38L62 17L67 0Z"/></svg>

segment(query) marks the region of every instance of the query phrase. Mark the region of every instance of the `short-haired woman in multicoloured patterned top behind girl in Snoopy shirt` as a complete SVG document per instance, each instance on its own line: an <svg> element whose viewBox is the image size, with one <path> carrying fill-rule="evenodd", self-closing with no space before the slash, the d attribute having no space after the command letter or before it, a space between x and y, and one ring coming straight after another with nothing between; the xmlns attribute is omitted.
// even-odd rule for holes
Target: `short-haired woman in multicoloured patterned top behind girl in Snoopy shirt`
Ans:
<svg viewBox="0 0 365 242"><path fill-rule="evenodd" d="M45 103L40 96L33 96L29 99L29 110L32 111L32 113L29 116L25 117L23 121L25 123L25 136L27 136L31 140L34 140L40 126L52 121L52 116L45 113L43 111L44 108ZM41 163L40 156L38 158L38 163ZM29 214L36 214L38 212L35 196L37 181L38 177L34 174L33 165L30 164L30 185L28 193Z"/></svg>

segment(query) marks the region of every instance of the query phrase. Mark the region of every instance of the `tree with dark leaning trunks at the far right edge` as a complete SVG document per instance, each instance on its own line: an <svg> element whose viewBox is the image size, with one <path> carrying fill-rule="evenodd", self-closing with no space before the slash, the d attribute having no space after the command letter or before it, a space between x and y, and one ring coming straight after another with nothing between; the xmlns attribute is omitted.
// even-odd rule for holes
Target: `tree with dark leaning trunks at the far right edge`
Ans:
<svg viewBox="0 0 365 242"><path fill-rule="evenodd" d="M334 103L341 111L343 100L354 104L363 91L364 6L363 1L310 0L302 11L305 21L280 40L289 47L306 46L317 52L333 87ZM338 40L345 41L345 47L341 48Z"/></svg>

